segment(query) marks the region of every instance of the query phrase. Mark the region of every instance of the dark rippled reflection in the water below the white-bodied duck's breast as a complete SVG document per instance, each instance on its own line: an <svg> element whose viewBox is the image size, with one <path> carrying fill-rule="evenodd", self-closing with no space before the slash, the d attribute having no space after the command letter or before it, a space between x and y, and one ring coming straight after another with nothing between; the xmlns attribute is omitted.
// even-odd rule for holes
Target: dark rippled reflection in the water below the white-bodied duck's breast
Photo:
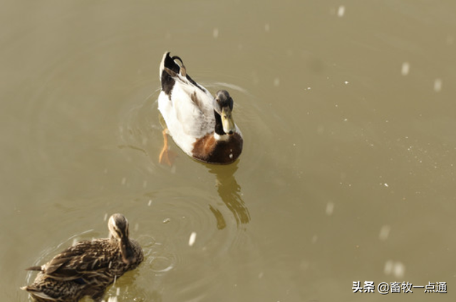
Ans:
<svg viewBox="0 0 456 302"><path fill-rule="evenodd" d="M250 221L249 209L246 207L244 200L241 197L241 186L234 178L234 173L237 171L237 163L231 165L219 166L205 164L216 177L217 192L228 210L233 213L234 219L239 224L247 224ZM227 223L224 220L222 212L209 205L210 210L217 219L217 228L224 229Z"/></svg>

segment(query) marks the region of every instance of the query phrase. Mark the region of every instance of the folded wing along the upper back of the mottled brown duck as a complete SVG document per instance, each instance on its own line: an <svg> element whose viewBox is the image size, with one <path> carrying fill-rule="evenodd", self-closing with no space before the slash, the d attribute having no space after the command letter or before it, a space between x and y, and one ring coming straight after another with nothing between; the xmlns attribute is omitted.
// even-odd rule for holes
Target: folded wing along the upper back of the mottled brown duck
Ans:
<svg viewBox="0 0 456 302"><path fill-rule="evenodd" d="M41 272L52 279L61 281L90 276L90 274L96 274L111 266L113 257L108 257L110 249L113 247L109 244L108 239L79 242L41 266ZM118 257L118 252L114 250L111 252ZM31 269L36 270L33 267Z"/></svg>

